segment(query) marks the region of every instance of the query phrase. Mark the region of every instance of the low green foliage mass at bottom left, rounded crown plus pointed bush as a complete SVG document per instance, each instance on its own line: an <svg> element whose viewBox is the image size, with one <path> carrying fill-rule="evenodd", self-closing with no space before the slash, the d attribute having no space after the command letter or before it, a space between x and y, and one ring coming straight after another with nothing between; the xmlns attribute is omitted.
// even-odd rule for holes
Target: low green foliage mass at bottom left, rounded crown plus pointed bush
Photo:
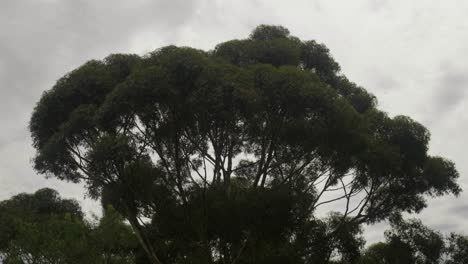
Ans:
<svg viewBox="0 0 468 264"><path fill-rule="evenodd" d="M136 238L111 208L95 227L74 200L52 189L0 203L0 262L135 263Z"/></svg>

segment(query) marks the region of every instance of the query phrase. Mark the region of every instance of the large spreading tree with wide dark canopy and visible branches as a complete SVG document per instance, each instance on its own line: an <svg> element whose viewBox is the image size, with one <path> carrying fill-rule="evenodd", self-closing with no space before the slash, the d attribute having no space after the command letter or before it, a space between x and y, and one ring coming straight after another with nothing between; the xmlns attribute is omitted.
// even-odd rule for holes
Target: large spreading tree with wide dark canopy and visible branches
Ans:
<svg viewBox="0 0 468 264"><path fill-rule="evenodd" d="M354 261L344 231L460 188L426 128L339 71L323 44L266 25L210 52L93 60L34 109L35 169L84 181L151 263L309 263L322 237ZM334 230L315 213L330 203Z"/></svg>

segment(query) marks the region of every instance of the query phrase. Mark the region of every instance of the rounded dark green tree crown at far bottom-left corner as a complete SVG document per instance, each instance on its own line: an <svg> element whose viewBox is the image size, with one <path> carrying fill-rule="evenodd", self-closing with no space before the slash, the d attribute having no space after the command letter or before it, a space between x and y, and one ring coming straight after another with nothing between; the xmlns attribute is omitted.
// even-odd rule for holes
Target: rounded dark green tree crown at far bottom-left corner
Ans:
<svg viewBox="0 0 468 264"><path fill-rule="evenodd" d="M87 247L88 228L80 206L52 189L1 202L0 226L4 263L79 263L96 258Z"/></svg>

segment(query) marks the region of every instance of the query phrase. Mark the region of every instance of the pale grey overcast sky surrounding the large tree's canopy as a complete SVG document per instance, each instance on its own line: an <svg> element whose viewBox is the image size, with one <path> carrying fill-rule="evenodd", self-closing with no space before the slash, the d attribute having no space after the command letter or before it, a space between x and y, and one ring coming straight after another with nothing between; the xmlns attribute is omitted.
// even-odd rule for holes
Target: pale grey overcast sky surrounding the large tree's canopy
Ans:
<svg viewBox="0 0 468 264"><path fill-rule="evenodd" d="M247 37L258 24L279 24L327 45L381 109L429 128L431 154L455 161L467 194L432 200L419 217L443 232L466 231L467 12L463 0L1 0L0 200L48 186L98 211L79 185L31 168L28 120L41 93L65 73L110 53L169 44L209 50ZM369 240L380 238L381 228L368 229Z"/></svg>

